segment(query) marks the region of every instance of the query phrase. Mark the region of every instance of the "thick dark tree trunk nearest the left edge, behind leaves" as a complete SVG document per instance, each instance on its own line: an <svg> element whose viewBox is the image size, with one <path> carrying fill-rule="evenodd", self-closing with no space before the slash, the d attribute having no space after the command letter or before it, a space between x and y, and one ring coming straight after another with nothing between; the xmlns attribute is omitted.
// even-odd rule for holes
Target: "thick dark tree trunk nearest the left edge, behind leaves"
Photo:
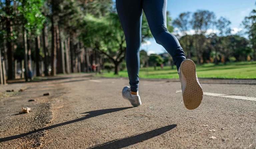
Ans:
<svg viewBox="0 0 256 149"><path fill-rule="evenodd" d="M11 1L6 0L6 15L11 16ZM12 25L9 17L6 18L6 47L7 47L7 59L8 59L8 79L13 79L13 51L12 51Z"/></svg>

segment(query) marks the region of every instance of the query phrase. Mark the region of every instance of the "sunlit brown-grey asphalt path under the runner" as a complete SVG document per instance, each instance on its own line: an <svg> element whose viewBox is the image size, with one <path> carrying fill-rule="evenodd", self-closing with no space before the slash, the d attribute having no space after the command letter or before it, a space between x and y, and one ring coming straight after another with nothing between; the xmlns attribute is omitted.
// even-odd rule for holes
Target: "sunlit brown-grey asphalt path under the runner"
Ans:
<svg viewBox="0 0 256 149"><path fill-rule="evenodd" d="M202 82L204 92L256 97L255 80ZM121 96L125 85L68 75L0 86L0 148L256 147L256 101L204 95L187 110L177 80L142 79L142 105L131 107ZM22 107L32 111L20 114Z"/></svg>

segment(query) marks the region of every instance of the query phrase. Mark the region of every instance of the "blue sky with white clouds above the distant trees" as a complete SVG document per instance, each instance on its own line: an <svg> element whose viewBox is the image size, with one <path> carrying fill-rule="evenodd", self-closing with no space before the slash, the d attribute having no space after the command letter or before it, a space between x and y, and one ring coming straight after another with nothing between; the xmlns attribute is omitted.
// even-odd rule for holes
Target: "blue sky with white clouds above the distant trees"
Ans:
<svg viewBox="0 0 256 149"><path fill-rule="evenodd" d="M193 13L199 9L213 11L217 19L223 16L231 21L231 29L235 34L242 30L241 23L244 17L256 8L255 2L255 0L167 0L167 10L173 20L182 12ZM143 43L141 49L146 50L148 54L166 52L154 39Z"/></svg>

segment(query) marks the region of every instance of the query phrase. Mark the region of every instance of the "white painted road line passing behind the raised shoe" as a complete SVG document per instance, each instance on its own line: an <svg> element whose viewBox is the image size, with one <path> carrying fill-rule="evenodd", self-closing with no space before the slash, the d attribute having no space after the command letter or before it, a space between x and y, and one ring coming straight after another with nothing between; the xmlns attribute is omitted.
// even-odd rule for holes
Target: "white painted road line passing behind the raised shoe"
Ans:
<svg viewBox="0 0 256 149"><path fill-rule="evenodd" d="M182 92L182 90L177 90L176 93L178 93L178 92ZM226 95L226 94L219 94L219 93L212 93L212 92L204 92L204 95L256 101L255 97L246 97L246 96L237 96L237 95Z"/></svg>

